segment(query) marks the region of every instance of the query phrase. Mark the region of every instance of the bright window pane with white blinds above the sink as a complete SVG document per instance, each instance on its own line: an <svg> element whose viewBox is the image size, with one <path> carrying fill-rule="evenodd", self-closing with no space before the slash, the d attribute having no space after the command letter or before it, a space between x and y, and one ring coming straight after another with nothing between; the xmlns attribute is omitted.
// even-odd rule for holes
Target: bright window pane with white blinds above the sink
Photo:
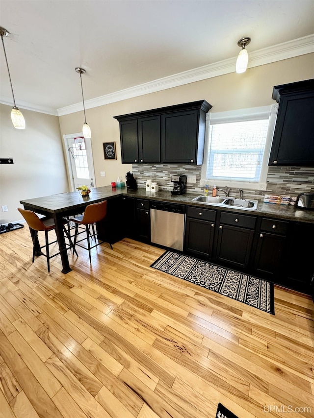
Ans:
<svg viewBox="0 0 314 418"><path fill-rule="evenodd" d="M259 182L268 120L211 123L206 178Z"/></svg>

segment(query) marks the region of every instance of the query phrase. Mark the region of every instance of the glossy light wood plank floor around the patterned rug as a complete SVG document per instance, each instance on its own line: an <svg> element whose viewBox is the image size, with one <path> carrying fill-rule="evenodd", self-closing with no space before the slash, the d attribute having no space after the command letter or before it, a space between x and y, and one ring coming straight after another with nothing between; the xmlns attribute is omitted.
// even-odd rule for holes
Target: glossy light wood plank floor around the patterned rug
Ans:
<svg viewBox="0 0 314 418"><path fill-rule="evenodd" d="M0 235L0 417L314 417L314 304L275 288L275 316L150 268L125 239L31 263ZM292 411L292 412L291 412Z"/></svg>

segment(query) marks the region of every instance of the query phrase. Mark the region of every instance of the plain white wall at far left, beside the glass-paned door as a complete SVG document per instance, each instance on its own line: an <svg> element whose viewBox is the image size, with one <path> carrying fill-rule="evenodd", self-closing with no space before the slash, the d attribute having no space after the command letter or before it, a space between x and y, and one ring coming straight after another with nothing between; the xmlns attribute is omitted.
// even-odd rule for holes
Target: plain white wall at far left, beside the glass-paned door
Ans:
<svg viewBox="0 0 314 418"><path fill-rule="evenodd" d="M0 104L0 158L14 162L0 164L0 223L21 220L22 199L69 191L58 117L21 108L26 129L16 129L11 109Z"/></svg>

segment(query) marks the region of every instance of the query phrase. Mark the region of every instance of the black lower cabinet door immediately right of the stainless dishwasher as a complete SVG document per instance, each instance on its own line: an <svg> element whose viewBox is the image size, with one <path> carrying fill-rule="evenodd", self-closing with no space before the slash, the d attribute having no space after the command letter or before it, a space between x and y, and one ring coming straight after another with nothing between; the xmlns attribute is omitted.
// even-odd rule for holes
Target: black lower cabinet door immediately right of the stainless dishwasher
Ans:
<svg viewBox="0 0 314 418"><path fill-rule="evenodd" d="M210 258L215 224L208 221L186 218L185 251L200 257Z"/></svg>

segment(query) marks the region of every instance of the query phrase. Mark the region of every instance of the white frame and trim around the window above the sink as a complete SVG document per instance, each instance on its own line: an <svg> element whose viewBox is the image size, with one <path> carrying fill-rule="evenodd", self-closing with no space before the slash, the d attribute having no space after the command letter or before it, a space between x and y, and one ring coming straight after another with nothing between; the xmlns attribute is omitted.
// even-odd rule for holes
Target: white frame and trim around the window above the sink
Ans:
<svg viewBox="0 0 314 418"><path fill-rule="evenodd" d="M249 188L252 190L266 190L266 180L268 174L268 161L270 155L270 148L272 138L275 129L276 117L277 117L278 103L269 106L252 107L248 109L237 109L226 112L208 112L206 115L206 128L205 128L205 144L204 144L204 161L202 165L202 174L200 185L205 184L213 185L218 181L222 181L214 178L207 178L207 164L208 164L208 147L209 147L209 127L211 124L219 123L231 123L242 121L255 121L260 119L268 119L268 129L266 134L266 142L264 148L264 156L262 160L262 169L260 181L238 181L238 180L225 180L224 186L230 188Z"/></svg>

